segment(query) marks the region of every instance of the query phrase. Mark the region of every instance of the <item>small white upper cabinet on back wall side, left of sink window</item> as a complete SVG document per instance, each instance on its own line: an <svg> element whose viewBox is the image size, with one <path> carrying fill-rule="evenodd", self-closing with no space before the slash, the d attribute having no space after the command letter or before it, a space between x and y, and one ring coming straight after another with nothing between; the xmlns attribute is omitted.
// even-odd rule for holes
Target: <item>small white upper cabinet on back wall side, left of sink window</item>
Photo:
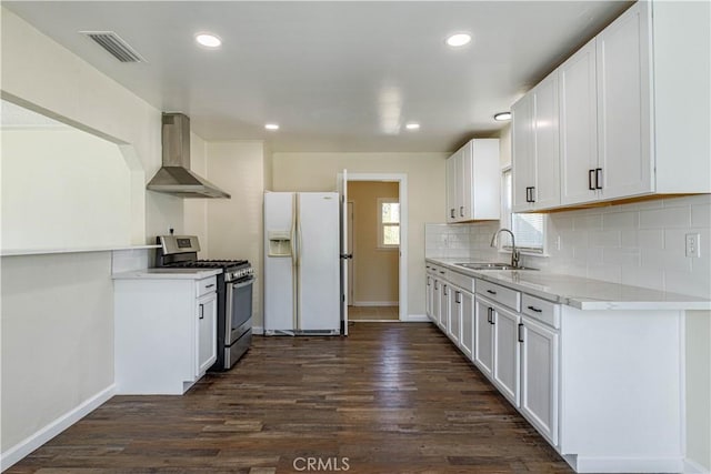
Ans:
<svg viewBox="0 0 711 474"><path fill-rule="evenodd" d="M447 222L497 220L499 139L474 139L447 160Z"/></svg>

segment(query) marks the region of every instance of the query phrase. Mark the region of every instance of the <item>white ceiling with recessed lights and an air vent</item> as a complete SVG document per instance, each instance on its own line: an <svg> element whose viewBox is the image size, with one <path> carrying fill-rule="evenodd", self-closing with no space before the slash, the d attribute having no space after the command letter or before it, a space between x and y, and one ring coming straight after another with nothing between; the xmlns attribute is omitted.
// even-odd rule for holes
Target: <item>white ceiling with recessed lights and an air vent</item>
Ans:
<svg viewBox="0 0 711 474"><path fill-rule="evenodd" d="M620 1L3 1L207 140L274 151L452 151L615 18ZM121 63L79 31L117 32ZM198 47L197 32L223 44ZM473 41L451 49L452 32ZM61 87L61 84L58 84ZM421 129L408 131L405 122ZM264 123L281 129L269 132Z"/></svg>

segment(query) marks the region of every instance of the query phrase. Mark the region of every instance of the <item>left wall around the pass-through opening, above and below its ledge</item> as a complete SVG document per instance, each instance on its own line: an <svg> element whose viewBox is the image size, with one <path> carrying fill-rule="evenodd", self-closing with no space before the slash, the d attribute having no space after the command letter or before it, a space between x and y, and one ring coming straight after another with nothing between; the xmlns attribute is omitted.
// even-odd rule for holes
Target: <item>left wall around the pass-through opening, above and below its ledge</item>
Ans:
<svg viewBox="0 0 711 474"><path fill-rule="evenodd" d="M120 145L131 243L182 225L181 199L144 189L160 168L160 111L6 9L1 27L2 97ZM67 225L87 224L74 219ZM113 297L110 252L4 256L1 265L4 467L12 446L31 448L42 430L110 393Z"/></svg>

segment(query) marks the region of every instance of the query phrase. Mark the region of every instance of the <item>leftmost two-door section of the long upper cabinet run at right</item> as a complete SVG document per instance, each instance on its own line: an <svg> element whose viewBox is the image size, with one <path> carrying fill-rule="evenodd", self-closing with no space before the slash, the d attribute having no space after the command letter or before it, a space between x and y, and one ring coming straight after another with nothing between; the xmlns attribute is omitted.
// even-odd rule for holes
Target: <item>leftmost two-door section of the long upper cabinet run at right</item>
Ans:
<svg viewBox="0 0 711 474"><path fill-rule="evenodd" d="M560 204L558 71L513 105L513 211Z"/></svg>

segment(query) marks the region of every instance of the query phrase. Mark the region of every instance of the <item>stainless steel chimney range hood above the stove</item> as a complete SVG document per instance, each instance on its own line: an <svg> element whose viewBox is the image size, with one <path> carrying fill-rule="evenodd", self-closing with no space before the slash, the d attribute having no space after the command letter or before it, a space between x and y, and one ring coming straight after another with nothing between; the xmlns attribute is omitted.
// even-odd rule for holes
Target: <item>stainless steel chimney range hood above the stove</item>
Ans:
<svg viewBox="0 0 711 474"><path fill-rule="evenodd" d="M223 198L230 194L190 171L190 119L182 113L163 113L163 165L148 183L150 191L181 198Z"/></svg>

